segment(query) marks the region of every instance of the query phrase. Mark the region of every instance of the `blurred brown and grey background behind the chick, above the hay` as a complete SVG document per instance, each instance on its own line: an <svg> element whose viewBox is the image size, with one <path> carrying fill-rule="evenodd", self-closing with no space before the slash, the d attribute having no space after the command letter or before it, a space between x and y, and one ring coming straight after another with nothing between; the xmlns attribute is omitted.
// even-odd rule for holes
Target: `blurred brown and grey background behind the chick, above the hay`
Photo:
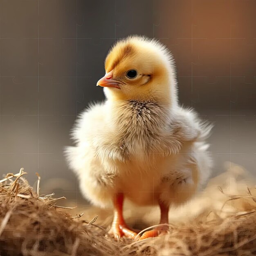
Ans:
<svg viewBox="0 0 256 256"><path fill-rule="evenodd" d="M215 124L213 176L225 161L256 173L255 13L255 0L0 0L0 174L24 167L41 193L80 198L63 146L130 34L171 49L180 102Z"/></svg>

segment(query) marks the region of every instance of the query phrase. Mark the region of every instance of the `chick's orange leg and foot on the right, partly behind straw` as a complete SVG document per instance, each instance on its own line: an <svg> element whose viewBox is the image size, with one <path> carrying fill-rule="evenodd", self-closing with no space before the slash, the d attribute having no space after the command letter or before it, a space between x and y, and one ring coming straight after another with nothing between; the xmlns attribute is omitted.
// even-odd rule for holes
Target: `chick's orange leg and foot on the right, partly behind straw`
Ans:
<svg viewBox="0 0 256 256"><path fill-rule="evenodd" d="M166 224L159 227L155 227L153 230L146 231L143 233L143 235L139 238L140 240L150 238L150 237L156 237L159 235L167 234L168 228L168 211L169 207L166 206L166 204L159 202L160 210L161 210L161 219L160 224Z"/></svg>

